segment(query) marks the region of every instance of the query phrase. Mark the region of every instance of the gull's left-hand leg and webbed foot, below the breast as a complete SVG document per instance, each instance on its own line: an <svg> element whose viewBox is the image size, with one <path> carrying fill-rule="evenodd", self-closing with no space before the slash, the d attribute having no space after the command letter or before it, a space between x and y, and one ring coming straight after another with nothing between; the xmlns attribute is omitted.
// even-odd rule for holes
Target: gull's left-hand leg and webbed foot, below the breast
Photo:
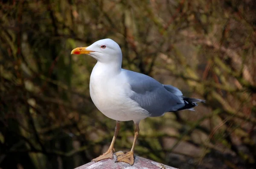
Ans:
<svg viewBox="0 0 256 169"><path fill-rule="evenodd" d="M111 144L108 148L108 151L105 152L104 154L100 155L98 158L94 158L92 161L97 162L97 161L100 161L100 160L103 160L103 159L106 159L106 158L113 159L113 152L115 152L114 144L115 144L116 136L117 136L119 130L120 130L120 122L116 121L114 137L113 137L112 142L111 142Z"/></svg>

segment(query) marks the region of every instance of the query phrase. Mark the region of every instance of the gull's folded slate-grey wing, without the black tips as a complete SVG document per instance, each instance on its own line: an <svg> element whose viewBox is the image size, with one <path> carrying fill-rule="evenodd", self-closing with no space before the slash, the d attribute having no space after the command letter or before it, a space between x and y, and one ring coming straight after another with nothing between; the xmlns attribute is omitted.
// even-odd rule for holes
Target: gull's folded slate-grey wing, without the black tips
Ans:
<svg viewBox="0 0 256 169"><path fill-rule="evenodd" d="M124 70L124 73L133 91L130 98L147 110L152 117L179 110L184 106L182 93L176 87L162 85L141 73L129 70Z"/></svg>

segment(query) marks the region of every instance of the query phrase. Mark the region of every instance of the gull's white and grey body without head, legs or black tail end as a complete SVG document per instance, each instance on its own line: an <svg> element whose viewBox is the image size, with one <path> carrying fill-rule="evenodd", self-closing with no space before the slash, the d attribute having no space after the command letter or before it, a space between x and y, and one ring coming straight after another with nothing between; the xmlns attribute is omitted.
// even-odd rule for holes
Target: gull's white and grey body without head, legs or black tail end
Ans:
<svg viewBox="0 0 256 169"><path fill-rule="evenodd" d="M186 103L176 87L162 85L147 75L121 69L121 66L113 71L100 62L90 76L90 96L104 115L118 121L138 122L162 116Z"/></svg>

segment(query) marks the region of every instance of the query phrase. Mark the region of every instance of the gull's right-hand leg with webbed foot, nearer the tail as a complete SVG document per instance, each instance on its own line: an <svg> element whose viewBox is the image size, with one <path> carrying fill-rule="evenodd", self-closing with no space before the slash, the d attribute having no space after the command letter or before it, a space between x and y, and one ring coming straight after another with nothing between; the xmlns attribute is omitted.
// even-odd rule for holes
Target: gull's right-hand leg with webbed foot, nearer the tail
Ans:
<svg viewBox="0 0 256 169"><path fill-rule="evenodd" d="M134 142L131 147L131 151L124 153L124 152L117 152L116 153L116 162L125 162L129 163L131 166L134 164L134 147L140 132L139 123L136 124L136 129L134 130Z"/></svg>

